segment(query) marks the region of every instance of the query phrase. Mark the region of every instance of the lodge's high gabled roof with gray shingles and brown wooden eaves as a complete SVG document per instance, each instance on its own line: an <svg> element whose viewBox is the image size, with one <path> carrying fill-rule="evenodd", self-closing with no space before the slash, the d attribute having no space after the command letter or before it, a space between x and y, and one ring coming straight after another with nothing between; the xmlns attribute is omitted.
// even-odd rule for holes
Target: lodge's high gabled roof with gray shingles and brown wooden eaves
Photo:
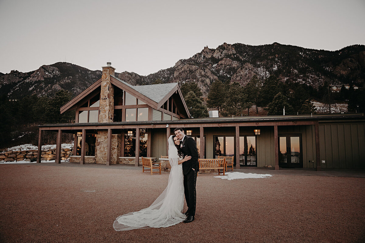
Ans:
<svg viewBox="0 0 365 243"><path fill-rule="evenodd" d="M172 96L179 97L181 105L179 105L180 112L185 110L187 117L190 117L190 113L188 107L183 98L183 94L181 93L180 87L178 83L163 83L158 85L142 85L142 86L133 86L123 80L110 76L110 81L113 85L119 87L122 90L127 91L131 95L141 97L142 101L149 104L154 109L159 109L164 103ZM61 114L70 109L76 109L75 105L77 102L81 101L88 94L92 93L98 87L101 86L101 78L98 79L95 83L87 87L80 94L76 95L72 98L68 103L61 107Z"/></svg>

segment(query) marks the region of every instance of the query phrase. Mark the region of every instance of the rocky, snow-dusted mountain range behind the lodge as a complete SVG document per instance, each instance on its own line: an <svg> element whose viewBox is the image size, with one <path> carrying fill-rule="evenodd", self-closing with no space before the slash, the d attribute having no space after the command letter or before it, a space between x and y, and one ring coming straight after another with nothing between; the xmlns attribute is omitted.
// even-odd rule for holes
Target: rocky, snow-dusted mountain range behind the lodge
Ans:
<svg viewBox="0 0 365 243"><path fill-rule="evenodd" d="M179 60L173 67L147 76L134 72L116 73L132 85L196 82L206 96L213 81L237 81L245 86L257 75L262 81L276 75L283 82L304 83L318 89L325 82L365 85L365 46L353 45L338 51L306 49L279 43L249 46L223 43L216 49L204 49L189 59ZM58 62L43 65L32 72L0 73L1 94L10 99L26 95L53 94L60 89L80 93L101 77L101 71L91 71L74 64Z"/></svg>

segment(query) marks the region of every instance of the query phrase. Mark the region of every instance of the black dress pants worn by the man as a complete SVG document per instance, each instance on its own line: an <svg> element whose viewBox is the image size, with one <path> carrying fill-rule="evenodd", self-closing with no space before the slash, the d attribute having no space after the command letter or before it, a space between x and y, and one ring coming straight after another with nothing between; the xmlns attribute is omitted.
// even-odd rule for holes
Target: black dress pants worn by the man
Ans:
<svg viewBox="0 0 365 243"><path fill-rule="evenodd" d="M196 175L197 171L191 169L186 175L184 175L184 193L185 200L188 206L187 215L195 216L196 209Z"/></svg>

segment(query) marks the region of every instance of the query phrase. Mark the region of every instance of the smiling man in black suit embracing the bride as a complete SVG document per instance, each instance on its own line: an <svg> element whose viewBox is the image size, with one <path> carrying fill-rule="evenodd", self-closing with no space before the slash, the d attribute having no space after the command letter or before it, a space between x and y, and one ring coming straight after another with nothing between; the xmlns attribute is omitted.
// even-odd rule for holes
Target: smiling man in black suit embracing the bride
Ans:
<svg viewBox="0 0 365 243"><path fill-rule="evenodd" d="M185 200L188 205L188 210L185 212L187 215L184 223L190 223L195 219L195 208L196 208L196 176L199 171L198 162L198 149L196 148L196 142L194 138L186 136L182 128L176 128L174 133L178 139L181 140L180 148L183 152L183 157L186 155L191 156L191 159L183 162L183 173L184 173L184 192Z"/></svg>

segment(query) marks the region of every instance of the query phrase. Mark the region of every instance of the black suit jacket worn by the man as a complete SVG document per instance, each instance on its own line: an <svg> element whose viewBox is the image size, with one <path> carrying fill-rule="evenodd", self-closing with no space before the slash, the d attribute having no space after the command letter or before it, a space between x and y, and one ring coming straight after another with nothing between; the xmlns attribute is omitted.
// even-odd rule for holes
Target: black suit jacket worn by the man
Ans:
<svg viewBox="0 0 365 243"><path fill-rule="evenodd" d="M189 173L191 169L199 171L199 163L198 163L199 154L198 154L198 149L196 148L196 142L194 138L185 135L183 141L183 148L181 148L181 151L183 152L184 157L187 155L191 156L190 160L183 162L184 175Z"/></svg>

